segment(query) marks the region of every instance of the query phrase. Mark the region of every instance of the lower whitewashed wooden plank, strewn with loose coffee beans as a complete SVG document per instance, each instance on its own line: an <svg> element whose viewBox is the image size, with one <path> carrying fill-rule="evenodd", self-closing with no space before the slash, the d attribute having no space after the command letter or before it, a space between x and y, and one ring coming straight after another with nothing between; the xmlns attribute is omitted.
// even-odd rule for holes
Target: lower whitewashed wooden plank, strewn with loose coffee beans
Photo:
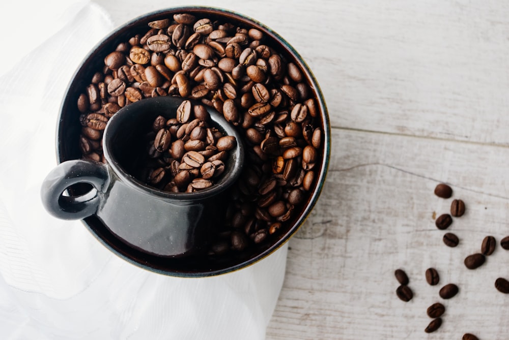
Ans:
<svg viewBox="0 0 509 340"><path fill-rule="evenodd" d="M290 240L287 274L267 339L425 339L426 309L440 301L444 323L434 339L504 338L509 304L494 288L509 278L509 252L497 247L487 263L468 270L463 259L479 252L486 235L509 235L509 149L425 138L333 130L325 189L305 225ZM445 181L454 190L433 194ZM433 216L461 198L467 211L442 242ZM395 295L397 268L406 270L414 298ZM425 271L435 267L438 286ZM439 288L460 287L443 300Z"/></svg>

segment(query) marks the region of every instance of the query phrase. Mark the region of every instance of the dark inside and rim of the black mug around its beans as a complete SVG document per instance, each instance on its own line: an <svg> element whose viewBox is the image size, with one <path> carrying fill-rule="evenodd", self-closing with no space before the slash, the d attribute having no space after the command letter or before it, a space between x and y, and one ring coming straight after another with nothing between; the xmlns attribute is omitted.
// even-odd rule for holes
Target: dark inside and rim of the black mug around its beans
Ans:
<svg viewBox="0 0 509 340"><path fill-rule="evenodd" d="M200 104L195 100L186 100L193 105ZM237 140L237 145L224 162L223 174L211 188L194 193L165 192L145 183L142 165L149 162L146 135L152 131L152 123L157 116L175 118L177 108L183 101L181 97L164 96L146 98L123 107L109 119L103 143L105 158L117 176L138 191L175 203L200 201L222 193L235 183L244 167L244 146L240 134L219 112L206 106L211 127L217 128L225 136L234 136Z"/></svg>

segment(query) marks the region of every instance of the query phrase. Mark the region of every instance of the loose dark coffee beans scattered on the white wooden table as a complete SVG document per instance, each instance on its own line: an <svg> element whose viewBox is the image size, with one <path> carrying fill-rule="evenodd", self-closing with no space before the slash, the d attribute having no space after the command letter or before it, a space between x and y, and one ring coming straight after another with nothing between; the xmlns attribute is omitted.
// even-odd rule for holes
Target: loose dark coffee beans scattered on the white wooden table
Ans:
<svg viewBox="0 0 509 340"><path fill-rule="evenodd" d="M453 196L453 189L445 183L440 183L435 188L435 195L443 199L448 199ZM462 217L465 213L465 209L465 202L463 200L454 199L450 205L450 213L443 213L438 218L436 218L435 226L439 230L445 230L449 228L454 222L453 218ZM458 236L451 232L445 233L442 237L442 240L445 245L451 248L456 247L460 242ZM480 245L480 252L468 255L465 258L465 267L473 270L482 266L486 262L486 257L494 253L496 244L497 241L494 236L486 236ZM500 246L505 250L509 250L509 236L501 239ZM413 297L413 293L410 288L406 286L409 282L407 274L403 269L397 269L394 272L394 275L401 284L401 286L398 287L396 291L397 296L405 302L410 301L410 299ZM438 285L440 282L439 273L435 268L428 268L426 270L425 276L426 281L430 286ZM499 277L495 281L495 288L501 293L509 294L509 281L503 277ZM450 299L456 296L458 292L459 287L456 284L449 283L443 286L439 290L438 294L442 299ZM433 320L425 328L425 332L431 333L438 330L442 325L441 317L444 313L445 306L440 302L435 302L429 306L427 314L430 318L433 318ZM465 333L462 337L462 340L478 340L478 338L471 333Z"/></svg>

